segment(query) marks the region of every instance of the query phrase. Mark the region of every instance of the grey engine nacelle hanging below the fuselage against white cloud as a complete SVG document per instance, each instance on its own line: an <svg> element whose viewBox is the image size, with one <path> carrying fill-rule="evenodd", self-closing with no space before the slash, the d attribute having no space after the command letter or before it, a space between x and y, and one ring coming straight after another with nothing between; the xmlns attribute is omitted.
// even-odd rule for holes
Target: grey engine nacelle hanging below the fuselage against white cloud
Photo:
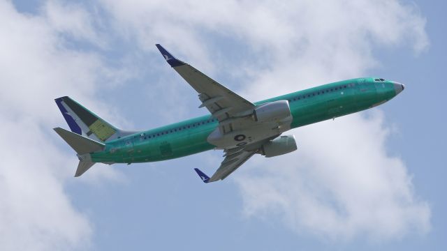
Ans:
<svg viewBox="0 0 447 251"><path fill-rule="evenodd" d="M298 149L294 135L279 136L261 146L261 154L267 158L291 153Z"/></svg>

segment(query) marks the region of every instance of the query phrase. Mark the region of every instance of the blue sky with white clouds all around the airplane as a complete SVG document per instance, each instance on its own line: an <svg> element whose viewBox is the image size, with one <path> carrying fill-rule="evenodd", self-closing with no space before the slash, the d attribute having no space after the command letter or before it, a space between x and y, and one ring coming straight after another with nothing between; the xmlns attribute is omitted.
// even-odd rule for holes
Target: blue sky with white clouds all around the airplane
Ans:
<svg viewBox="0 0 447 251"><path fill-rule="evenodd" d="M3 1L0 249L444 250L445 8ZM218 151L73 178L54 98L125 129L207 113L155 43L252 101L370 75L406 89L293 130L297 152L256 156L219 183L193 172L214 172Z"/></svg>

